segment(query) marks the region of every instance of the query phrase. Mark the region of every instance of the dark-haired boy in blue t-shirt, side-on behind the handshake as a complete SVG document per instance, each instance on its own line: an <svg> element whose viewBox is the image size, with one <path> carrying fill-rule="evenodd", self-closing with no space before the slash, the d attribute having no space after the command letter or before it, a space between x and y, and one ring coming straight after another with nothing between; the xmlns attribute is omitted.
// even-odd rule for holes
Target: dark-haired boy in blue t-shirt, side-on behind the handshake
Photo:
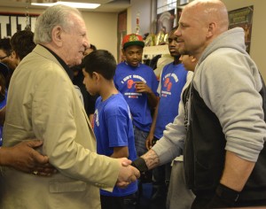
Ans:
<svg viewBox="0 0 266 209"><path fill-rule="evenodd" d="M83 83L90 95L99 95L94 113L94 133L98 154L111 158L137 159L129 105L115 88L116 61L107 50L95 50L83 59ZM113 192L100 190L102 209L123 209L134 204L137 182Z"/></svg>

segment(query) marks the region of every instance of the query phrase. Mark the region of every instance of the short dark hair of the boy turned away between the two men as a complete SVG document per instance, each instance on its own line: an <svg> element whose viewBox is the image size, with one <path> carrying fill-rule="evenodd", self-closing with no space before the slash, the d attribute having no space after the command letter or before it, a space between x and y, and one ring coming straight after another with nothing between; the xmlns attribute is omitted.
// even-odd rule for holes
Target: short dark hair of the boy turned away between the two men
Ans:
<svg viewBox="0 0 266 209"><path fill-rule="evenodd" d="M94 50L82 60L85 71L92 76L93 72L101 74L106 80L113 80L116 61L108 50Z"/></svg>

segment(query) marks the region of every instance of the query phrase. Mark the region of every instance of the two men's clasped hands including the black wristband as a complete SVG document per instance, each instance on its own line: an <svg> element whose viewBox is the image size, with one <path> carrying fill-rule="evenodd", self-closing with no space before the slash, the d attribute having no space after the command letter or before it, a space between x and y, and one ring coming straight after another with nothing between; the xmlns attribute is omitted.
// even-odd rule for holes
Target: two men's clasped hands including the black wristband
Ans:
<svg viewBox="0 0 266 209"><path fill-rule="evenodd" d="M118 174L116 186L125 188L130 182L135 182L140 177L140 174L148 171L145 164L145 159L138 158L133 162L129 159L119 159L121 162L120 171Z"/></svg>

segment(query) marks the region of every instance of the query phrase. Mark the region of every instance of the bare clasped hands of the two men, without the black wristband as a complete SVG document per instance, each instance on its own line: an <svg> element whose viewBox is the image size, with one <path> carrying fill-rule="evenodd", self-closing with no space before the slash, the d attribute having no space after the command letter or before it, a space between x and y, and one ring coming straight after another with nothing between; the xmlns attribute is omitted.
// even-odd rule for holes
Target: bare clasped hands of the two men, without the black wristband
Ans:
<svg viewBox="0 0 266 209"><path fill-rule="evenodd" d="M118 174L116 186L125 188L129 185L129 183L137 181L137 178L140 177L140 173L136 167L130 166L131 160L126 158L118 160L121 163L121 167Z"/></svg>

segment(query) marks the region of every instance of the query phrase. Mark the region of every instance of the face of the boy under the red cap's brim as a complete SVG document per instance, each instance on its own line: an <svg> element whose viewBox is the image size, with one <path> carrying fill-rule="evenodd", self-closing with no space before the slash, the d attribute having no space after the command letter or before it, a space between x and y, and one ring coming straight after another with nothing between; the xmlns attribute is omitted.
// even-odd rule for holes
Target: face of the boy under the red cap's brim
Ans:
<svg viewBox="0 0 266 209"><path fill-rule="evenodd" d="M141 46L129 46L123 50L123 55L125 56L129 66L138 66L142 60L143 48Z"/></svg>

